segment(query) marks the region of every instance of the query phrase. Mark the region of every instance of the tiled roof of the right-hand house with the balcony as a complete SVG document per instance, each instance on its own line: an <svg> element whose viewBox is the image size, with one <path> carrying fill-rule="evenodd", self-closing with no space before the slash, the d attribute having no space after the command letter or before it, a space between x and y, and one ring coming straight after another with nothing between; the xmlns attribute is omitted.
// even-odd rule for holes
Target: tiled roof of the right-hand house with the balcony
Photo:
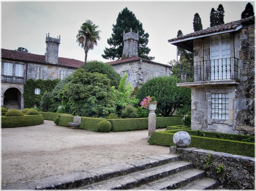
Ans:
<svg viewBox="0 0 256 191"><path fill-rule="evenodd" d="M232 29L236 29L240 25L248 24L248 23L254 23L254 16L247 17L245 19L241 19L241 20L238 20L238 21L232 21L230 23L225 23L225 24L222 24L222 25L210 27L210 28L207 28L207 29L204 29L204 30L192 32L192 33L189 33L189 34L186 34L186 35L183 35L183 36L179 36L177 38L172 38L172 39L168 40L168 42L173 42L173 41L176 41L176 40L186 39L186 38L190 38L190 37L201 36L201 35L205 35L205 34L212 34L212 33L215 33L215 32L232 30Z"/></svg>

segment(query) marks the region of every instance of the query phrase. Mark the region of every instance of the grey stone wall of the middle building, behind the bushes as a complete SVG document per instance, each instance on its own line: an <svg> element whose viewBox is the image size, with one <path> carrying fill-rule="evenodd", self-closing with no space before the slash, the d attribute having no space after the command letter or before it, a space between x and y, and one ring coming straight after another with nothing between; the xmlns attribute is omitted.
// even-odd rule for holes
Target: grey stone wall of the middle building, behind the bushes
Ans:
<svg viewBox="0 0 256 191"><path fill-rule="evenodd" d="M128 81L132 83L133 87L141 87L142 84L149 79L158 76L170 76L171 69L169 66L161 64L154 64L145 61L135 61L123 64L112 65L120 76L123 76L124 67L128 67Z"/></svg>

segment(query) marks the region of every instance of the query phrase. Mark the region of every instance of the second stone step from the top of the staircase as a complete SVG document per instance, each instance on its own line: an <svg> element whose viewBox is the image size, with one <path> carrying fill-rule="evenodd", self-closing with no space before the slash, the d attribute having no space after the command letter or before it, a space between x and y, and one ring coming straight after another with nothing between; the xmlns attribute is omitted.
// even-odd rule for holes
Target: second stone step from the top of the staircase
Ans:
<svg viewBox="0 0 256 191"><path fill-rule="evenodd" d="M185 161L176 161L165 165L145 169L139 172L133 172L125 176L112 178L100 183L94 183L79 189L99 189L99 190L112 190L112 189L131 189L139 185L148 184L155 180L165 178L171 174L182 172L192 168L192 163ZM203 173L202 171L200 171Z"/></svg>

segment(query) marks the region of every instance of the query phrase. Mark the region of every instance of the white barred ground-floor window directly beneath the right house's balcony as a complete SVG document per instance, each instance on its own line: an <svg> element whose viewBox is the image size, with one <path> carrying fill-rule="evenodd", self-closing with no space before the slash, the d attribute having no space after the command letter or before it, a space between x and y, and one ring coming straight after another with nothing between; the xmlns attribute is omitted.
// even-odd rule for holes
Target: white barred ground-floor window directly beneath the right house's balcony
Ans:
<svg viewBox="0 0 256 191"><path fill-rule="evenodd" d="M212 93L212 119L229 118L228 93Z"/></svg>

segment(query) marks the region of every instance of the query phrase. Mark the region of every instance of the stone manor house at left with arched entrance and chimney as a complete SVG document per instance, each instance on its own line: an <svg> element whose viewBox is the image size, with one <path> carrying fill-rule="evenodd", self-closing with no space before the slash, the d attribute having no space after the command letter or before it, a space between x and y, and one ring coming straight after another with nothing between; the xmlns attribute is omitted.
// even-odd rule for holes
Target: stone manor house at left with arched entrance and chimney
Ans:
<svg viewBox="0 0 256 191"><path fill-rule="evenodd" d="M28 79L63 79L83 64L76 59L58 57L60 42L60 36L46 35L45 55L1 49L1 106L24 108L23 85ZM39 88L35 94L40 94Z"/></svg>

